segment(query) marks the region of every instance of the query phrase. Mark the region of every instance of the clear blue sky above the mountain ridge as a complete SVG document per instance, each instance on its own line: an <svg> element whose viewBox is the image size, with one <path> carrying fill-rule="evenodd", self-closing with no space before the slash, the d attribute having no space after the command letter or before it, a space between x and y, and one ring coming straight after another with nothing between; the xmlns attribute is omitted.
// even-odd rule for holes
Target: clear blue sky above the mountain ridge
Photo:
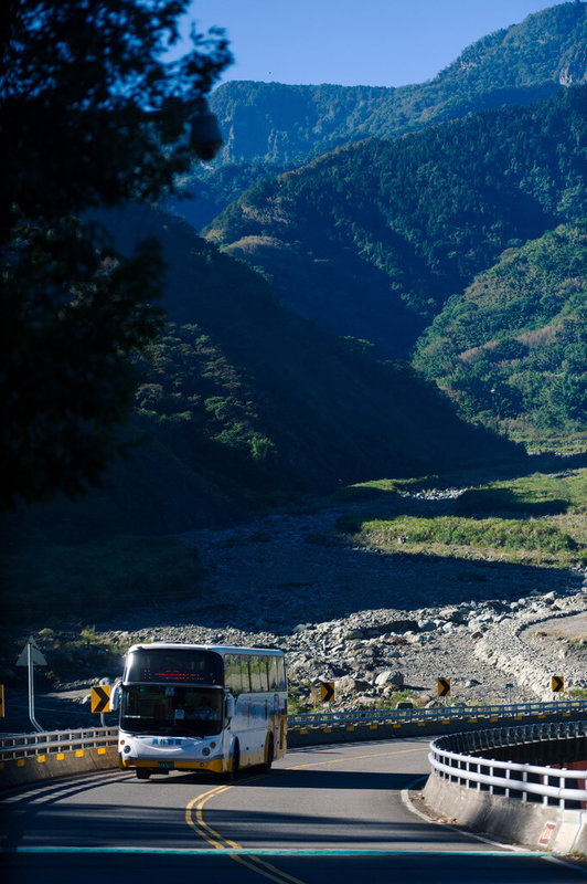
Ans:
<svg viewBox="0 0 587 884"><path fill-rule="evenodd" d="M556 0L194 0L225 29L223 80L402 86L434 77L479 38Z"/></svg>

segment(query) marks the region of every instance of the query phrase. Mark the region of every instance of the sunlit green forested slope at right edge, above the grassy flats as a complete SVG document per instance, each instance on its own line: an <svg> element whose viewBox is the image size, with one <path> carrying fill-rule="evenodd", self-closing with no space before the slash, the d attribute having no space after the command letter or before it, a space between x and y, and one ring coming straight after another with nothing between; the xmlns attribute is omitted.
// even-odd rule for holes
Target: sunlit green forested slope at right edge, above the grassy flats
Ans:
<svg viewBox="0 0 587 884"><path fill-rule="evenodd" d="M455 295L414 360L468 420L532 442L587 429L587 235L561 227Z"/></svg>

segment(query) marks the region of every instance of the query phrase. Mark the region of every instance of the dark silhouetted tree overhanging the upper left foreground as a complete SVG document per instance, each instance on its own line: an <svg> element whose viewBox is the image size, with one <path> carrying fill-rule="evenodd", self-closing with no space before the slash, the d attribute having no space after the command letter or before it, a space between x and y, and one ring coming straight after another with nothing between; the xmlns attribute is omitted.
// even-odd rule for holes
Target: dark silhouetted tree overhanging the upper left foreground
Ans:
<svg viewBox="0 0 587 884"><path fill-rule="evenodd" d="M167 61L189 0L4 0L0 501L82 493L124 446L132 356L162 323L156 242L117 254L88 211L150 202L231 62L221 31Z"/></svg>

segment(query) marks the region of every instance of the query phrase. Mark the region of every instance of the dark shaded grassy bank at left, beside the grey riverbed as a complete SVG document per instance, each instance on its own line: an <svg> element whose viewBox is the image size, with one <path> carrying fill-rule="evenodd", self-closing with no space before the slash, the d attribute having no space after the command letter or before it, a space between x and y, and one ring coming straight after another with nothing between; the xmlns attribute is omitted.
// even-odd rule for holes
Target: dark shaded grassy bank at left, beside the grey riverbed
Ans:
<svg viewBox="0 0 587 884"><path fill-rule="evenodd" d="M169 537L119 535L83 544L51 544L34 555L4 552L4 617L11 622L99 620L159 600L199 596L202 566L193 547ZM82 638L92 643L92 630Z"/></svg>

